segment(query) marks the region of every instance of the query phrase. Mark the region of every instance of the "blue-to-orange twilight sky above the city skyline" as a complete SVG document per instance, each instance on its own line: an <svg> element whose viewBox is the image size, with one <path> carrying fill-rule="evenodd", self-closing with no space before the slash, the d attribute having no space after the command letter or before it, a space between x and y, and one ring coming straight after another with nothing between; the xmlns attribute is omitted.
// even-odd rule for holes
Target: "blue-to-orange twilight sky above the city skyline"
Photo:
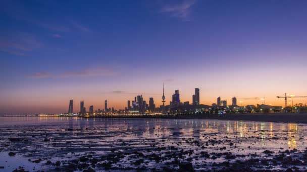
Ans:
<svg viewBox="0 0 307 172"><path fill-rule="evenodd" d="M307 96L307 1L1 1L0 114ZM296 98L293 103L307 103ZM168 103L167 103L168 104Z"/></svg>

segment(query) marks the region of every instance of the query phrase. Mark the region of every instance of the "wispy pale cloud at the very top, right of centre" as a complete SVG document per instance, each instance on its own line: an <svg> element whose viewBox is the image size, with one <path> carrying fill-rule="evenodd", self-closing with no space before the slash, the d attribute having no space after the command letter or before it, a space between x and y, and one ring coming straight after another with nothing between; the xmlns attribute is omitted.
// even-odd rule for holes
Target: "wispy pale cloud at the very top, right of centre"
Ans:
<svg viewBox="0 0 307 172"><path fill-rule="evenodd" d="M191 7L196 3L196 0L184 0L179 4L167 4L161 9L161 13L170 14L171 17L187 20L190 14Z"/></svg>

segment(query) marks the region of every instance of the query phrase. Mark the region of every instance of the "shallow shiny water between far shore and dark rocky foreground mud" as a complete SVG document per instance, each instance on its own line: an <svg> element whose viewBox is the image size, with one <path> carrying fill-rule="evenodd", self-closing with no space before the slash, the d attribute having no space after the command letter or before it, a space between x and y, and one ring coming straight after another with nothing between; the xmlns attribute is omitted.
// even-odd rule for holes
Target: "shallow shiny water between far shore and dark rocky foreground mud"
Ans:
<svg viewBox="0 0 307 172"><path fill-rule="evenodd" d="M70 130L73 129L73 130ZM223 121L206 119L82 119L68 117L0 117L0 166L10 171L18 166L28 170L48 169L47 159L72 159L78 153L94 151L106 155L110 150L126 152L150 147L176 146L179 149L261 153L266 149L303 150L307 126L295 123L267 123L250 121ZM9 138L23 138L11 142ZM46 141L47 139L48 141ZM229 146L229 142L234 143ZM200 147L200 145L205 145ZM220 150L226 146L227 149ZM14 150L16 156L8 156ZM147 151L148 152L148 151ZM0 155L1 155L0 154ZM28 159L42 158L40 163ZM17 160L16 160L17 159ZM222 161L223 159L207 159ZM7 162L6 162L7 161ZM129 165L123 158L117 165ZM203 159L193 159L197 166ZM148 162L147 166L157 166Z"/></svg>

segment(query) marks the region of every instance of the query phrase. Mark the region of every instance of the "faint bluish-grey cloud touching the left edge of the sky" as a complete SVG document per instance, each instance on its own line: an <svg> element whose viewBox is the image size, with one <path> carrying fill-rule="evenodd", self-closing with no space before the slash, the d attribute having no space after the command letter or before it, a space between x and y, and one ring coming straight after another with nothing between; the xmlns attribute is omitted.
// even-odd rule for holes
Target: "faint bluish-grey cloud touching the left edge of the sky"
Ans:
<svg viewBox="0 0 307 172"><path fill-rule="evenodd" d="M32 34L15 33L9 35L7 39L0 40L0 51L13 55L25 55L41 46Z"/></svg>

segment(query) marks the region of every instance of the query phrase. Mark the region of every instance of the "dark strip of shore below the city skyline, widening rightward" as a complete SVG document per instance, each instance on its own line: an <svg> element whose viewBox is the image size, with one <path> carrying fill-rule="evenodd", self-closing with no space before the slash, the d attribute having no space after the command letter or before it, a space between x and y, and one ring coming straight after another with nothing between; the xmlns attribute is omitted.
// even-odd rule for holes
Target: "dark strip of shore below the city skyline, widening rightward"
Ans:
<svg viewBox="0 0 307 172"><path fill-rule="evenodd" d="M307 113L272 113L272 114L200 114L200 115L138 115L138 116L95 116L88 118L163 118L163 119L217 119L236 121L260 121L307 124Z"/></svg>

